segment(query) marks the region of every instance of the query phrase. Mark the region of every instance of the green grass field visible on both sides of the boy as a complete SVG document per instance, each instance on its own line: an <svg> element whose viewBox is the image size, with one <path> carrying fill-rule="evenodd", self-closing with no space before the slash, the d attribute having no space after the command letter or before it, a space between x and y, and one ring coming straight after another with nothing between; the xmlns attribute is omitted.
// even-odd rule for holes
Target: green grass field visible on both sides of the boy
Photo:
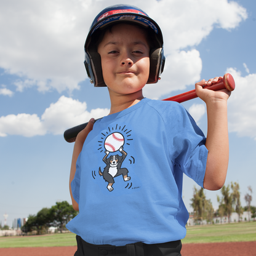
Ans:
<svg viewBox="0 0 256 256"><path fill-rule="evenodd" d="M223 225L190 226L183 244L204 242L256 241L256 222ZM0 248L76 246L73 233L42 236L0 237Z"/></svg>

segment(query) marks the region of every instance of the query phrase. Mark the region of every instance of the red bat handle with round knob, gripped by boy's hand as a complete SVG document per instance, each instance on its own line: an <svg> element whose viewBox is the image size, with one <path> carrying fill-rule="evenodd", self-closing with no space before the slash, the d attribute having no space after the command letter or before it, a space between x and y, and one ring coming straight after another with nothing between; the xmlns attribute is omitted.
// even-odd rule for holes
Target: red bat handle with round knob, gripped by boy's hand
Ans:
<svg viewBox="0 0 256 256"><path fill-rule="evenodd" d="M231 76L231 74L226 73L223 76L223 79L220 81L216 82L215 84L212 84L211 86L204 86L204 89L209 89L209 90L222 90L226 89L232 92L234 90L235 84L234 84L234 78ZM192 100L193 98L198 97L196 95L196 90L190 90L188 92L184 92L183 94L175 95L170 98L165 98L164 100L170 100L172 102L186 102L187 100Z"/></svg>

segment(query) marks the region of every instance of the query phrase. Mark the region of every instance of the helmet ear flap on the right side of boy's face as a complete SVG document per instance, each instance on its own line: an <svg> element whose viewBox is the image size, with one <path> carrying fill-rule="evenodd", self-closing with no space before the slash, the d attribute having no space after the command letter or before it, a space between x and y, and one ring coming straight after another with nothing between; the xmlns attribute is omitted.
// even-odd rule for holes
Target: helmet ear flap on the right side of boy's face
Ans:
<svg viewBox="0 0 256 256"><path fill-rule="evenodd" d="M165 60L162 48L154 48L150 51L150 75L147 84L154 84L161 79Z"/></svg>

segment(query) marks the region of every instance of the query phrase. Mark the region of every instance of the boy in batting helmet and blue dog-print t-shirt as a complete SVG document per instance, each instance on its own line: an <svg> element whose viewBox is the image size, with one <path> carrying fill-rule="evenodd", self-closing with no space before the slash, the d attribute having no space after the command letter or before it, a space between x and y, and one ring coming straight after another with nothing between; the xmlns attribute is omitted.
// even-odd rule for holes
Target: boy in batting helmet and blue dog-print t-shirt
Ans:
<svg viewBox="0 0 256 256"><path fill-rule="evenodd" d="M76 256L181 255L183 173L208 190L225 182L230 92L202 89L219 78L196 84L207 139L182 105L144 98L163 70L162 44L159 26L134 6L108 7L92 23L86 70L108 87L111 108L74 145L70 193L79 214L67 228L77 234Z"/></svg>

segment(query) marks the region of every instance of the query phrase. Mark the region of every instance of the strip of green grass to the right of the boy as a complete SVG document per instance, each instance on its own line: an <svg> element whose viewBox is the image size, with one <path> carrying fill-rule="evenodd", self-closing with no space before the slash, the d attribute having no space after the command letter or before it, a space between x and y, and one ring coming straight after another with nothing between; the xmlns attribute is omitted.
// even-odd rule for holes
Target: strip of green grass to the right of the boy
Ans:
<svg viewBox="0 0 256 256"><path fill-rule="evenodd" d="M187 228L183 244L256 241L256 222L198 225Z"/></svg>

